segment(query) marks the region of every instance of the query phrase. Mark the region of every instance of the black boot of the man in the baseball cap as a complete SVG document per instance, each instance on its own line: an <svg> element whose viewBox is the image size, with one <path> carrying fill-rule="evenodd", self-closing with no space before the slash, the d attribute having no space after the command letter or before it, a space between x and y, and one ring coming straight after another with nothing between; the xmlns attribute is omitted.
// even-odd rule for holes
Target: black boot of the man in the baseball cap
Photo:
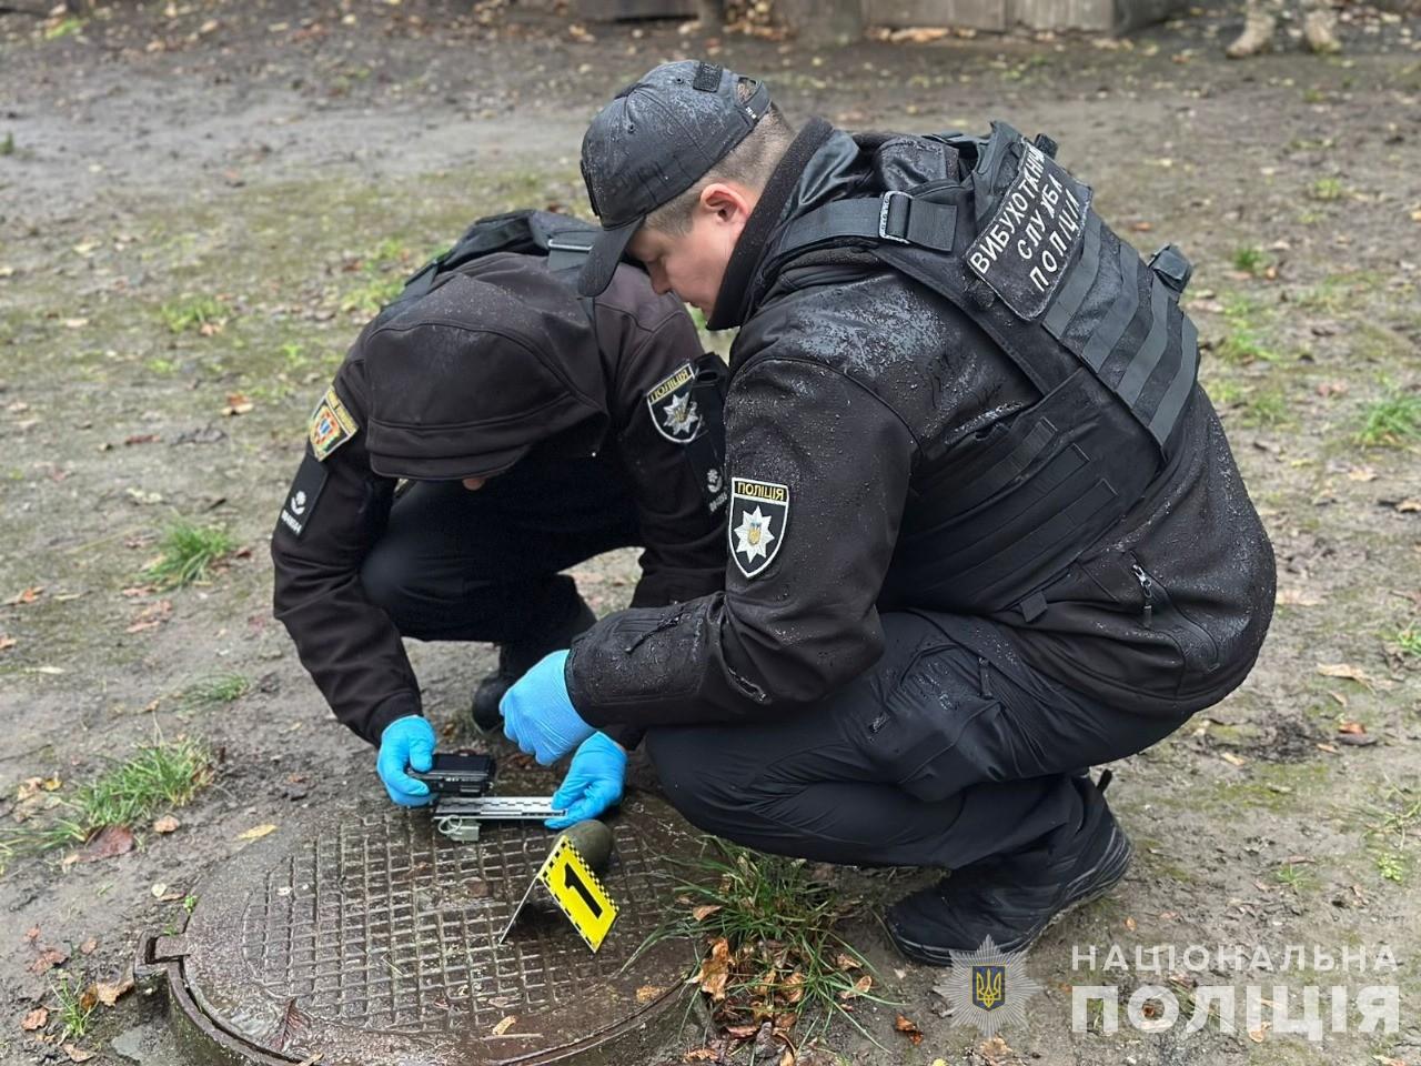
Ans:
<svg viewBox="0 0 1421 1066"><path fill-rule="evenodd" d="M1084 806L1079 826L1056 830L1042 847L956 870L890 907L888 934L898 949L936 967L988 937L1002 951L1025 951L1066 911L1110 891L1134 849L1101 790L1090 779L1071 783Z"/></svg>

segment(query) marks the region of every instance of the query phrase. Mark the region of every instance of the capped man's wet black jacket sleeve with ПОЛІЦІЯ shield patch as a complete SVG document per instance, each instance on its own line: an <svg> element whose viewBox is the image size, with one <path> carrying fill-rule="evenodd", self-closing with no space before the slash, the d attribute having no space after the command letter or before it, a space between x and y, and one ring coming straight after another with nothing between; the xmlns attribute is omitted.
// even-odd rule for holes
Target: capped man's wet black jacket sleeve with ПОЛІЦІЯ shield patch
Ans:
<svg viewBox="0 0 1421 1066"><path fill-rule="evenodd" d="M764 716L843 687L877 661L875 600L915 452L878 397L820 364L766 350L732 381L728 473L787 488L773 556L732 557L725 591L604 618L573 644L573 704L591 723ZM746 509L732 496L729 547ZM776 523L780 527L776 530ZM760 539L763 543L763 537Z"/></svg>

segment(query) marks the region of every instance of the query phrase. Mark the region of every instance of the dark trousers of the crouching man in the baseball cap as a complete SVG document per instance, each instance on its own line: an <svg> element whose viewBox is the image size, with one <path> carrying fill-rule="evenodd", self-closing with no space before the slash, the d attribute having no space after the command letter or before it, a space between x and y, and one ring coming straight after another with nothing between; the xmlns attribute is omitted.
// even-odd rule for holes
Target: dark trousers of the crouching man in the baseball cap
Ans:
<svg viewBox="0 0 1421 1066"><path fill-rule="evenodd" d="M882 615L882 658L813 706L647 733L671 802L760 851L959 868L1074 833L1073 776L1184 718L1130 714L1042 677L993 623Z"/></svg>

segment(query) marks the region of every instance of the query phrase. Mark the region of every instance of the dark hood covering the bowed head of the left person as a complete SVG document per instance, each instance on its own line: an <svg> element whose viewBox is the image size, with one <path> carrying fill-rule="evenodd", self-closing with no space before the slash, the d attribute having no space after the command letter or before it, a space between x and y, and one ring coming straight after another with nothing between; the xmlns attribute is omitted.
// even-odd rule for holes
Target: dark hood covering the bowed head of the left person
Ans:
<svg viewBox="0 0 1421 1066"><path fill-rule="evenodd" d="M470 263L357 345L382 476L492 476L534 446L594 451L605 431L593 325L543 257Z"/></svg>

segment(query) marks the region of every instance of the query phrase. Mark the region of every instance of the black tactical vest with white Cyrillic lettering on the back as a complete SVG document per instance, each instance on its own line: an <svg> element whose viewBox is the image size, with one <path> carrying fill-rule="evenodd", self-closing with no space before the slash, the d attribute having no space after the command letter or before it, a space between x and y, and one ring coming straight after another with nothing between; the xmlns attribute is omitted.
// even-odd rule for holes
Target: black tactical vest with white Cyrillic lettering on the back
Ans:
<svg viewBox="0 0 1421 1066"><path fill-rule="evenodd" d="M1047 138L998 122L989 138L932 139L971 173L824 205L790 223L773 254L867 242L968 314L1040 389L971 448L925 456L894 567L917 576L917 603L1017 608L1032 621L1046 608L1040 588L1177 466L1198 371L1198 334L1178 303L1189 266L1172 246L1144 263Z"/></svg>

